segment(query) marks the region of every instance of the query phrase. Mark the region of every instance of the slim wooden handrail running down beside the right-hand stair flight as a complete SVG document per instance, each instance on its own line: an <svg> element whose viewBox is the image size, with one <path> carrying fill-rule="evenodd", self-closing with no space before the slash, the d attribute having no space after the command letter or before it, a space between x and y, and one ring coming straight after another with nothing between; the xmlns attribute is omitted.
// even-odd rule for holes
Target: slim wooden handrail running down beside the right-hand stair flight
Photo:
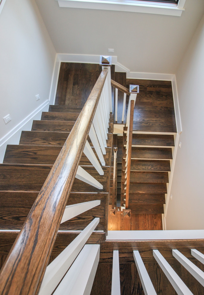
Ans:
<svg viewBox="0 0 204 295"><path fill-rule="evenodd" d="M130 103L130 123L129 123L129 140L128 140L128 167L127 167L125 209L128 209L128 205L129 205L130 165L131 165L131 152L132 152L133 117L134 117L134 100L131 100L131 103Z"/></svg>

